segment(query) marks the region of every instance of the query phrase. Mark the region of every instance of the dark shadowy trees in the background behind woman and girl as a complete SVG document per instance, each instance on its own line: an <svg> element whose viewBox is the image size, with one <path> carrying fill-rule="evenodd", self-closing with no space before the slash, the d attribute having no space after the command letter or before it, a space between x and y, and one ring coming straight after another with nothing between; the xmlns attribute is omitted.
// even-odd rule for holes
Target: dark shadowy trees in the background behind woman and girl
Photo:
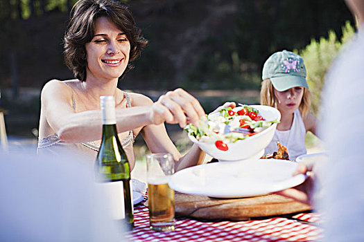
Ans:
<svg viewBox="0 0 364 242"><path fill-rule="evenodd" d="M340 39L341 26L352 21L341 0L123 1L150 41L123 89L259 90L272 53L302 50L327 39L328 30ZM0 0L0 88L12 85L14 66L19 86L73 77L63 63L62 35L75 2ZM180 50L189 55L174 56Z"/></svg>

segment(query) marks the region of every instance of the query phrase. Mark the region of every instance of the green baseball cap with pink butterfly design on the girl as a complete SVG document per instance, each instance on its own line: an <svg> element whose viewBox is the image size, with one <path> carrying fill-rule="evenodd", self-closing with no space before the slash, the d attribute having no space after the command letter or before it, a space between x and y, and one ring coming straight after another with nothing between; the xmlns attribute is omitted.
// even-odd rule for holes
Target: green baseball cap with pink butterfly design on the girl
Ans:
<svg viewBox="0 0 364 242"><path fill-rule="evenodd" d="M266 60L261 78L269 78L277 91L286 91L295 86L309 89L302 57L287 50L276 52Z"/></svg>

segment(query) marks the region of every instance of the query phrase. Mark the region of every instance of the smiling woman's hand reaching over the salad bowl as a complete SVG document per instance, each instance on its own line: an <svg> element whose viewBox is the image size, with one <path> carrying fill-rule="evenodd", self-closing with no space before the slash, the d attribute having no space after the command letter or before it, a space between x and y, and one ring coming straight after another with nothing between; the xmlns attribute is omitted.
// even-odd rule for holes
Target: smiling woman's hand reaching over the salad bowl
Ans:
<svg viewBox="0 0 364 242"><path fill-rule="evenodd" d="M183 89L175 89L161 95L152 106L150 121L153 124L167 122L169 124L180 124L184 128L189 122L194 125L198 120L205 117L205 111L198 100Z"/></svg>

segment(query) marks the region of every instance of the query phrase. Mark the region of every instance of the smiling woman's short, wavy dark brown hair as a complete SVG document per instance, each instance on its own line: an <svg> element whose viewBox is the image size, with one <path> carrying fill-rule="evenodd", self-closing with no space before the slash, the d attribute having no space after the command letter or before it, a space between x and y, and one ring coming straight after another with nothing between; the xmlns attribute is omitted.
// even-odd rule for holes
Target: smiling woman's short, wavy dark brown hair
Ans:
<svg viewBox="0 0 364 242"><path fill-rule="evenodd" d="M148 41L141 36L141 30L135 26L134 17L127 6L116 0L80 0L71 10L71 17L64 35L64 62L73 71L78 80L86 80L86 48L92 41L96 19L108 17L130 41L128 66L121 78L133 68L131 62L137 59Z"/></svg>

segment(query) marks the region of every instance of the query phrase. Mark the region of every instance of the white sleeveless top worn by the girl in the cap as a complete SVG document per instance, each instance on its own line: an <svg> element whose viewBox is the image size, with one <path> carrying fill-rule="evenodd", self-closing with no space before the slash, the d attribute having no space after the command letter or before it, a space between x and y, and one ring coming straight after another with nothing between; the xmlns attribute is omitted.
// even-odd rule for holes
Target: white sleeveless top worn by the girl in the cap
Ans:
<svg viewBox="0 0 364 242"><path fill-rule="evenodd" d="M278 150L277 141L287 148L288 156L291 160L295 160L297 156L307 153L306 146L304 145L304 138L306 137L306 127L300 110L297 109L293 113L293 122L289 130L275 130L275 135L266 147L264 154L273 153Z"/></svg>

